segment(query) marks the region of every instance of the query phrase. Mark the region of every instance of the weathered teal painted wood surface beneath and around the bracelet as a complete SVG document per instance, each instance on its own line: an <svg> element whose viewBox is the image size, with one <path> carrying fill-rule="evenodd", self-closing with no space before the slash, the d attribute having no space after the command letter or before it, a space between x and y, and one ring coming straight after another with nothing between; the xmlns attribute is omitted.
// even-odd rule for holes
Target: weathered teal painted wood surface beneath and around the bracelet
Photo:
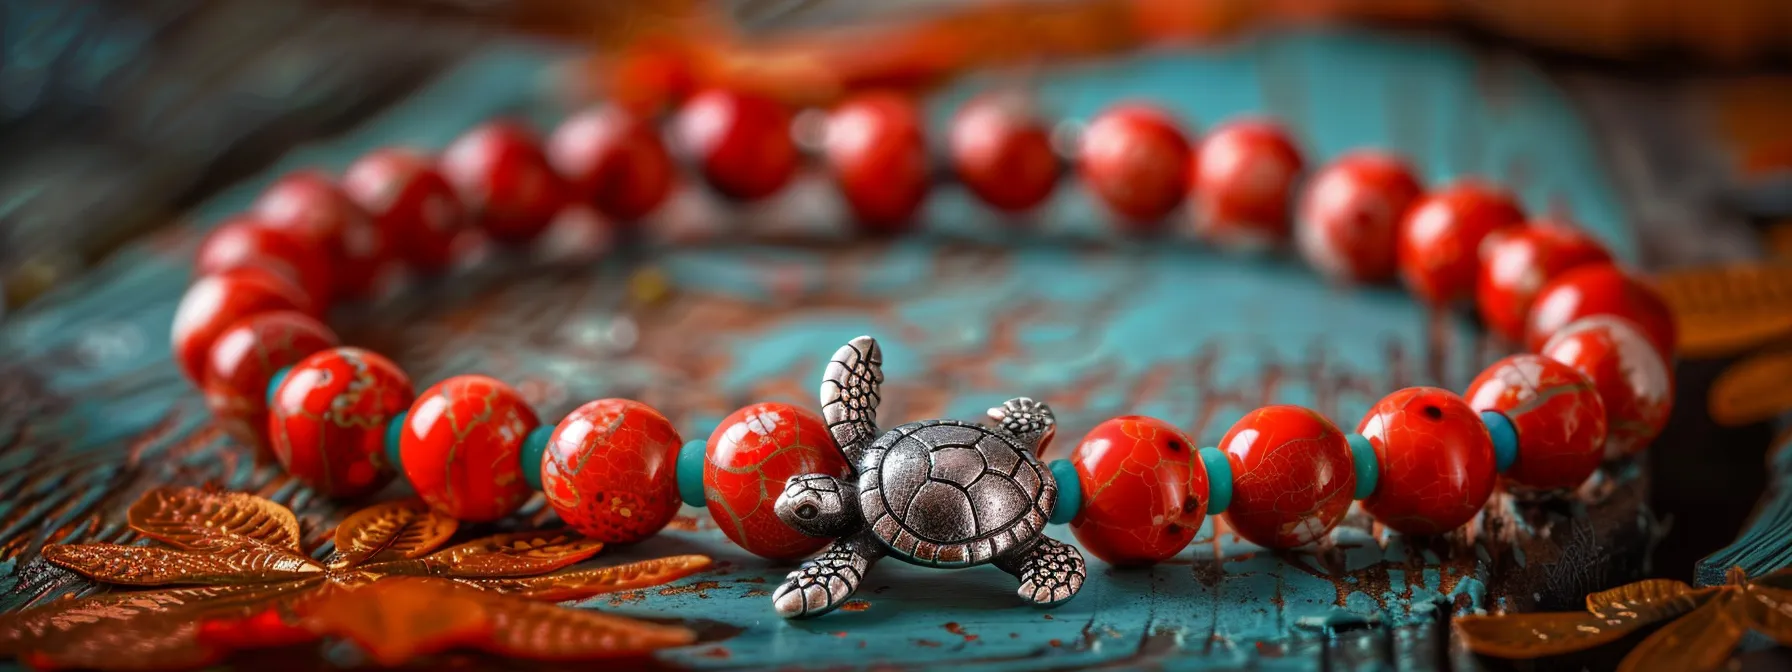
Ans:
<svg viewBox="0 0 1792 672"><path fill-rule="evenodd" d="M441 147L495 113L550 120L534 84L552 54L468 61L407 104L330 143L294 152L204 208L197 224L134 246L91 278L0 324L0 607L90 586L36 559L36 545L129 539L118 513L145 487L219 482L290 504L317 552L340 505L258 468L208 430L199 396L168 360L168 323L195 231L283 170L340 170L383 143ZM987 81L943 91L946 113ZM1149 54L1048 72L1045 104L1086 116L1152 97L1211 124L1281 115L1319 158L1394 147L1430 179L1487 174L1538 210L1572 211L1620 256L1636 244L1563 97L1534 70L1482 63L1446 43L1297 34L1215 52ZM722 206L688 194L656 226L697 228ZM930 235L849 242L814 177L728 226L796 231L805 246L649 244L606 260L525 263L523 254L348 308L348 342L392 355L419 387L453 373L516 383L559 418L600 396L640 398L686 437L760 400L814 403L828 355L849 337L883 342L880 418L978 418L1005 398L1048 400L1063 457L1116 414L1152 414L1213 444L1249 409L1310 405L1340 425L1412 383L1460 389L1496 355L1460 321L1426 315L1396 289L1337 289L1288 258L1224 256L1190 244L1124 242L1072 185L1016 233L953 186L926 206ZM672 297L625 289L652 269ZM1271 554L1211 521L1176 561L1093 566L1068 606L1020 606L993 568L935 572L882 563L848 609L778 620L769 590L787 572L742 554L697 509L677 530L602 561L715 556L719 570L588 606L688 618L708 640L661 659L688 667L953 665L1020 670L1161 663L1170 668L1317 668L1380 661L1443 665L1443 624L1478 607L1573 607L1584 591L1634 579L1652 518L1633 473L1590 505L1500 500L1473 536L1405 539L1353 514L1321 548ZM400 495L394 489L392 495ZM539 498L511 525L548 518ZM1070 539L1063 525L1048 534ZM1546 536L1548 541L1534 541Z"/></svg>

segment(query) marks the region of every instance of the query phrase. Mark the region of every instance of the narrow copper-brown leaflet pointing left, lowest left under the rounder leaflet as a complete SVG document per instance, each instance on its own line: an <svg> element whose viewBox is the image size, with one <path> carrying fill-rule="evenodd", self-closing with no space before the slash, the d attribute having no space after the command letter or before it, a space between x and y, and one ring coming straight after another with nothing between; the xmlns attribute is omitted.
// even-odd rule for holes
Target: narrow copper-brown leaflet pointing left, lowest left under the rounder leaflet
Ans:
<svg viewBox="0 0 1792 672"><path fill-rule="evenodd" d="M260 584L315 577L324 568L308 557L262 547L190 554L154 547L84 543L45 547L43 559L95 581L127 586Z"/></svg>

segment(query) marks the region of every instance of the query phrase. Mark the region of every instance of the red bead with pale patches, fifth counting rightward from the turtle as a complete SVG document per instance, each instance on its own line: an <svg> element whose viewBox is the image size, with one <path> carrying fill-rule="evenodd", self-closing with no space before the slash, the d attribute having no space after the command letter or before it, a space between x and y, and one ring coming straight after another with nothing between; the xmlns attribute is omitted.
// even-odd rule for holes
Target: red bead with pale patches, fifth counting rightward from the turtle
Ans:
<svg viewBox="0 0 1792 672"><path fill-rule="evenodd" d="M1674 371L1636 324L1595 315L1555 333L1543 357L1581 371L1606 409L1606 457L1636 455L1674 410Z"/></svg>

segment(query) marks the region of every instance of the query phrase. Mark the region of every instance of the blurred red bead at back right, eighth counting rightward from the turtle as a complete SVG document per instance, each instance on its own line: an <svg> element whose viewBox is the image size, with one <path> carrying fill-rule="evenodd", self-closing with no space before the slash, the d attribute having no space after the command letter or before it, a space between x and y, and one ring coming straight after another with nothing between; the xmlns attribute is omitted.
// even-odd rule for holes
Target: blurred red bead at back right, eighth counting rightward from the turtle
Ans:
<svg viewBox="0 0 1792 672"><path fill-rule="evenodd" d="M1511 194L1480 181L1464 179L1426 194L1398 228L1400 278L1426 305L1471 299L1482 242L1523 220L1525 211Z"/></svg>

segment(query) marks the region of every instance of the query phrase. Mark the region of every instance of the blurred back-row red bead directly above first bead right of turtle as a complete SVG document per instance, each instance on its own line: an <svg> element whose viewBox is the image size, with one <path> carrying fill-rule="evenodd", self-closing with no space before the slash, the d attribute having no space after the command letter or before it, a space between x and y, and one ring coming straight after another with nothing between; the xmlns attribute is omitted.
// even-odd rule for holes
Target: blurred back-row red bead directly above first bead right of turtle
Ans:
<svg viewBox="0 0 1792 672"><path fill-rule="evenodd" d="M1077 170L1082 186L1120 215L1127 231L1154 231L1188 194L1193 152L1168 113L1145 104L1120 104L1095 116L1082 133Z"/></svg>

